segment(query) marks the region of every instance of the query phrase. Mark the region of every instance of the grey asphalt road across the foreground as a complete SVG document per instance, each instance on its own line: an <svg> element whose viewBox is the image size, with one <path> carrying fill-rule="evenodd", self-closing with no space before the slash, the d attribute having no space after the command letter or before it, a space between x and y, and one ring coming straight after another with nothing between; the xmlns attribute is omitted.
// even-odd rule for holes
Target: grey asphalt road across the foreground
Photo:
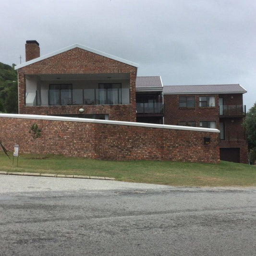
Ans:
<svg viewBox="0 0 256 256"><path fill-rule="evenodd" d="M256 255L256 188L0 175L0 255Z"/></svg>

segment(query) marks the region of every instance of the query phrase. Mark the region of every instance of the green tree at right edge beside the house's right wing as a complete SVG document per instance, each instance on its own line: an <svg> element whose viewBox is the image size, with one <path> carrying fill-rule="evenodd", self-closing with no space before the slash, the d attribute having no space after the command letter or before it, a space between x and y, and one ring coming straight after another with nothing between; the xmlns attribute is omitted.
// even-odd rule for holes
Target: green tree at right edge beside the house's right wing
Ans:
<svg viewBox="0 0 256 256"><path fill-rule="evenodd" d="M249 144L249 148L256 148L256 102L254 106L246 113L244 127Z"/></svg>

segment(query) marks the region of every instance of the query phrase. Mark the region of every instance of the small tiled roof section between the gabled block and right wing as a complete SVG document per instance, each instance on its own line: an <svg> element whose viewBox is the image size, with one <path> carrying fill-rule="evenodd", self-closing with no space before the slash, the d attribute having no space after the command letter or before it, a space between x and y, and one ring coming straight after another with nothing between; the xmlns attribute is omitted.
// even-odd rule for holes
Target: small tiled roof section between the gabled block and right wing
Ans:
<svg viewBox="0 0 256 256"><path fill-rule="evenodd" d="M137 76L136 91L162 91L163 85L160 76Z"/></svg>

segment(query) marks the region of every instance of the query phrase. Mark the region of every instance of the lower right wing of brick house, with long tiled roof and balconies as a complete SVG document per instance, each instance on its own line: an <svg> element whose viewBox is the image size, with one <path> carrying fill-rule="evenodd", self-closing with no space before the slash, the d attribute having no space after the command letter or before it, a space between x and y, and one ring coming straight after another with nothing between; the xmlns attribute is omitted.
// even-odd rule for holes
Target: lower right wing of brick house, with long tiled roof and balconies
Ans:
<svg viewBox="0 0 256 256"><path fill-rule="evenodd" d="M241 85L163 86L164 123L220 130L220 160L247 163Z"/></svg>

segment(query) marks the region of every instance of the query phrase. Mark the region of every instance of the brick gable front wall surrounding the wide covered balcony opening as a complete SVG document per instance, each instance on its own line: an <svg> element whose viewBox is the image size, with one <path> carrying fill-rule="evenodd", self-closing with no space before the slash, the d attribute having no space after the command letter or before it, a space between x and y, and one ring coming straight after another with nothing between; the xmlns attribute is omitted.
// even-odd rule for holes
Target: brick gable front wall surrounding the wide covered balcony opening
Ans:
<svg viewBox="0 0 256 256"><path fill-rule="evenodd" d="M99 74L129 73L130 104L127 105L79 105L79 106L25 106L26 74ZM42 61L22 67L19 77L19 113L20 114L79 114L79 108L87 114L108 113L110 120L136 122L135 80L137 68L120 61L86 51L80 48L67 50Z"/></svg>

